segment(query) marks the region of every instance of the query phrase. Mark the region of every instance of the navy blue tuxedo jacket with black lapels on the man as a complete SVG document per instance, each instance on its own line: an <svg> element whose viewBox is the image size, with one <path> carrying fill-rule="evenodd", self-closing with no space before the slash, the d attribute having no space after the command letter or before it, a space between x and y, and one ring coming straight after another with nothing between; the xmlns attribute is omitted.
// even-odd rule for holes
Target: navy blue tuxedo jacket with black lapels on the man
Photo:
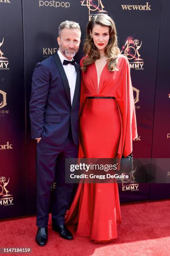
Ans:
<svg viewBox="0 0 170 256"><path fill-rule="evenodd" d="M76 63L76 87L71 106L69 82L58 53L37 64L30 99L31 137L62 144L71 132L78 145L78 115L81 73Z"/></svg>

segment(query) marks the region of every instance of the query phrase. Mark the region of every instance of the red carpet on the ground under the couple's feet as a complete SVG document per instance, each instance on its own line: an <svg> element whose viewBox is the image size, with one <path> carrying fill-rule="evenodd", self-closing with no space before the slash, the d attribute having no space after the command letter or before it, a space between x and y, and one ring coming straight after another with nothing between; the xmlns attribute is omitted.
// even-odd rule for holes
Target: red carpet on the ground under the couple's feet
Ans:
<svg viewBox="0 0 170 256"><path fill-rule="evenodd" d="M121 205L123 223L114 242L93 243L74 236L66 241L48 226L48 243L39 247L34 239L36 218L23 217L0 221L0 247L30 247L32 255L59 256L170 256L170 200ZM69 227L73 231L73 226ZM26 255L1 254L1 255Z"/></svg>

